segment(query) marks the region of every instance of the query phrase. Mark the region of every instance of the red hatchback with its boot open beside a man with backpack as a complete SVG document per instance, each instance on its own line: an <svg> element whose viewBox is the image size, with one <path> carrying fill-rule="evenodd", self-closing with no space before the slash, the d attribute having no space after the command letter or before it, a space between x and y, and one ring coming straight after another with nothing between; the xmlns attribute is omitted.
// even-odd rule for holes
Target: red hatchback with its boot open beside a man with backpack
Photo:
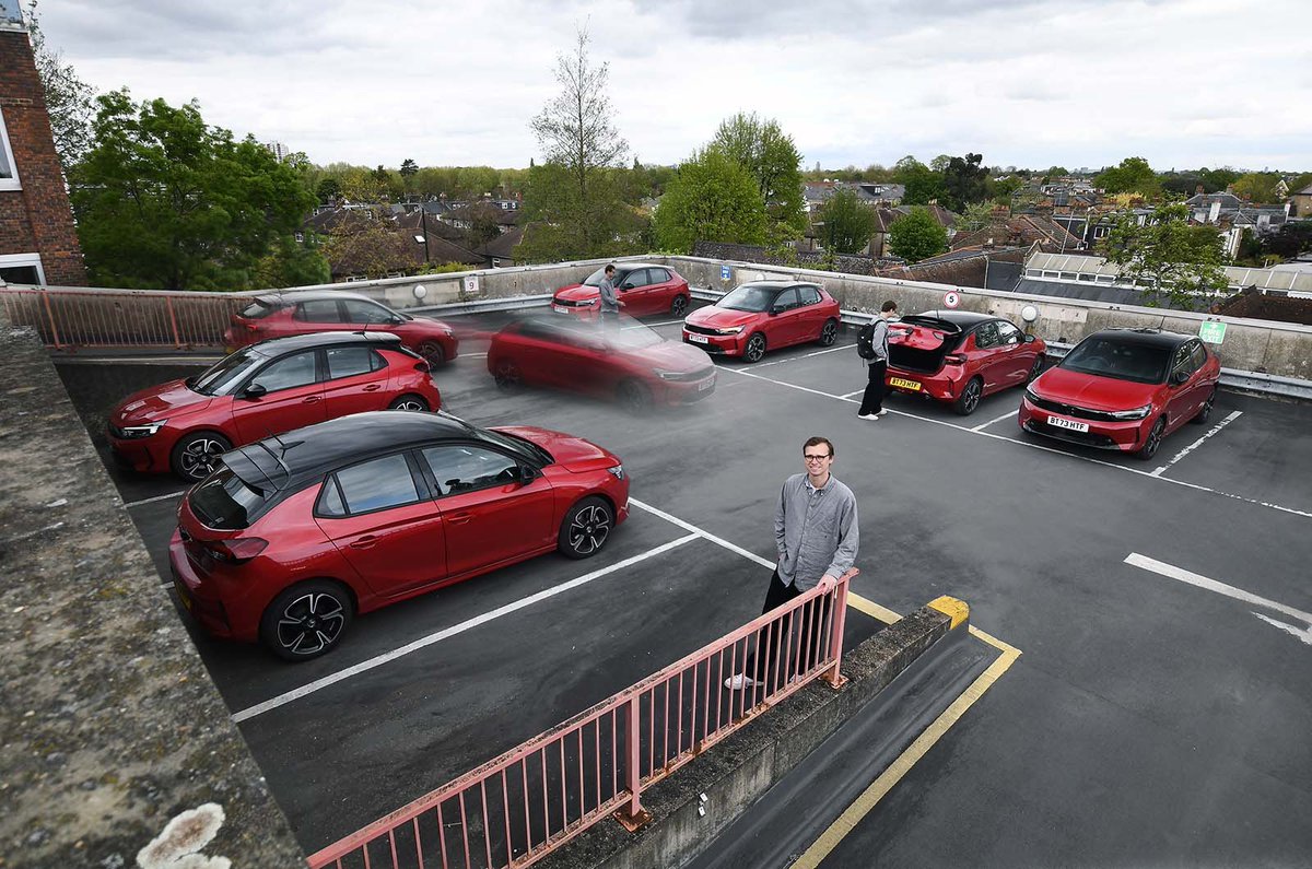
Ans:
<svg viewBox="0 0 1312 869"><path fill-rule="evenodd" d="M1038 377L1047 349L997 316L926 311L890 328L884 382L892 391L947 402L970 416L983 396Z"/></svg>

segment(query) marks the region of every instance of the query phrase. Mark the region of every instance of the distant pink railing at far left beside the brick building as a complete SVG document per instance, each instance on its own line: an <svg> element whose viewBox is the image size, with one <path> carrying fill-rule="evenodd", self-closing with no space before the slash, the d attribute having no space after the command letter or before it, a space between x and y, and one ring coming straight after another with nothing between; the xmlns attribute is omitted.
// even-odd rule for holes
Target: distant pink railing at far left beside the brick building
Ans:
<svg viewBox="0 0 1312 869"><path fill-rule="evenodd" d="M29 326L56 349L77 347L220 347L236 293L0 287L9 323Z"/></svg>

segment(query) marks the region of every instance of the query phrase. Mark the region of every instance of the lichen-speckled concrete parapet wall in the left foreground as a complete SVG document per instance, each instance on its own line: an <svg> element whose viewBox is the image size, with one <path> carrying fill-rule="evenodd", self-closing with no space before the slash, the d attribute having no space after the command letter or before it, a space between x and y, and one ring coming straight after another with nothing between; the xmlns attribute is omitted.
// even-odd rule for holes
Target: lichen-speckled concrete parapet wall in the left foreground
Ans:
<svg viewBox="0 0 1312 869"><path fill-rule="evenodd" d="M304 865L46 348L3 320L0 866L135 866L203 803L203 853Z"/></svg>

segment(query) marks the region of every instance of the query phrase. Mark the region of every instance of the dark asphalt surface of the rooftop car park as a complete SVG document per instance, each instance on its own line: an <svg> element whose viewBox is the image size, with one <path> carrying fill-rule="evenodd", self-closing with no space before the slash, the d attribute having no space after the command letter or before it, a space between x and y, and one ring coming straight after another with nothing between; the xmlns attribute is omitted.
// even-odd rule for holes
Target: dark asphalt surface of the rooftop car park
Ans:
<svg viewBox="0 0 1312 869"><path fill-rule="evenodd" d="M778 486L802 470L802 441L824 434L861 505L853 591L896 612L960 597L974 625L1021 650L824 866L1308 865L1312 407L1223 391L1208 425L1183 427L1140 462L1023 434L1018 391L966 419L892 396L886 417L858 420L865 375L850 341L726 361L706 402L643 419L559 392L499 392L475 345L437 382L447 410L471 421L613 449L632 498L768 559ZM178 375L167 365L59 370L102 449L117 398ZM182 487L110 473L167 578ZM757 563L705 538L649 554L686 534L634 509L596 559L543 557L391 606L307 664L197 643L314 851L754 617L769 579ZM1179 579L1193 575L1249 597ZM855 612L850 624L849 642L878 627ZM828 826L795 823L812 837Z"/></svg>

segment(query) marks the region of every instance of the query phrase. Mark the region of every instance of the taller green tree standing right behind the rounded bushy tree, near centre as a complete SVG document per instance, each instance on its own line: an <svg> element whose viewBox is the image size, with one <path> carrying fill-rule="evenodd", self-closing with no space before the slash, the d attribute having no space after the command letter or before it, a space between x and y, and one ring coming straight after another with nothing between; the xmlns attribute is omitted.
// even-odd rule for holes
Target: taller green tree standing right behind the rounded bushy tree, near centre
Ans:
<svg viewBox="0 0 1312 869"><path fill-rule="evenodd" d="M802 155L778 121L740 112L720 122L710 147L723 151L756 179L770 244L802 238L807 228Z"/></svg>

